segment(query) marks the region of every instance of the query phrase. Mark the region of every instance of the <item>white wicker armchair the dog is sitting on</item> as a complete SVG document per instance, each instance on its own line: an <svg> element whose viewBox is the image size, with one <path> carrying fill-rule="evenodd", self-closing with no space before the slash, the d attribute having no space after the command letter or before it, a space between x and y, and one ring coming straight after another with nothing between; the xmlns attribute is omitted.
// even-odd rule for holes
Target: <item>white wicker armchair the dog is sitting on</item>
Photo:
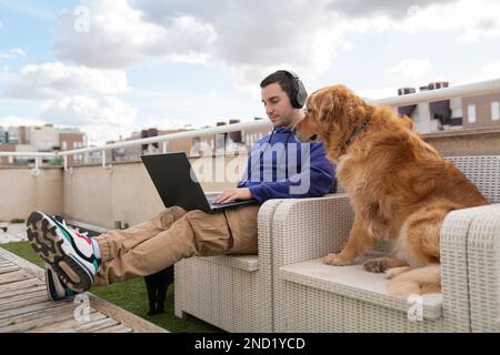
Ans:
<svg viewBox="0 0 500 355"><path fill-rule="evenodd" d="M382 274L364 272L359 264L321 263L327 253L341 250L352 225L347 195L283 201L272 224L274 331L498 332L500 156L449 160L491 204L447 215L441 229L442 294L409 304L387 294Z"/></svg>

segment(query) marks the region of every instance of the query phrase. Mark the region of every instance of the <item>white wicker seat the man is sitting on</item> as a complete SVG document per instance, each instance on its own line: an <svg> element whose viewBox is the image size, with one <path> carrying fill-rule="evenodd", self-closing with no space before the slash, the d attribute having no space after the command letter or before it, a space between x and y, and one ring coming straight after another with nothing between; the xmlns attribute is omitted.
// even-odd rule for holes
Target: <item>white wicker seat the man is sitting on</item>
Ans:
<svg viewBox="0 0 500 355"><path fill-rule="evenodd" d="M190 257L174 266L176 315L228 332L272 332L272 220L282 200L259 210L259 255Z"/></svg>

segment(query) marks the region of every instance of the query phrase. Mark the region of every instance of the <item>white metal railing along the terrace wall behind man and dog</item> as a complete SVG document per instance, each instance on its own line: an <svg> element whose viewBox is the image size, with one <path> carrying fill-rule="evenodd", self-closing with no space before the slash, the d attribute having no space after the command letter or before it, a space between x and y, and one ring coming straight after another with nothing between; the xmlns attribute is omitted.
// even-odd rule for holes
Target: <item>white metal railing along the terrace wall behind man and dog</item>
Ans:
<svg viewBox="0 0 500 355"><path fill-rule="evenodd" d="M471 84L464 84L459 87L451 87L438 90L429 90L412 94L406 94L401 97L387 98L380 100L370 101L371 104L374 105L389 105L389 106L402 106L417 104L421 102L431 102L438 100L447 100L459 97L470 97L470 95L479 95L487 94L491 92L500 91L500 79L481 81ZM271 129L271 123L268 120L259 120L251 122L242 122L237 124L222 125L210 129L201 129L194 131L179 132L167 135L152 136L147 139L133 140L128 142L119 142L107 144L102 146L93 146L93 148L83 148L71 151L63 152L54 152L54 153L33 153L33 152L0 152L0 156L24 156L24 158L36 158L36 166L32 170L33 175L38 174L40 166L40 159L43 156L58 158L62 156L64 161L64 171L71 172L71 169L68 169L68 156L74 154L90 153L90 152L102 152L102 168L110 169L111 165L107 165L106 163L106 151L123 148L123 146L133 146L133 145L142 145L142 144L152 144L152 143L162 143L162 152L167 152L167 142L177 140L177 139L187 139L187 138L196 138L200 135L209 135L209 134L220 134L220 133L229 133L234 131L242 131L246 129L260 129L260 128L269 128Z"/></svg>

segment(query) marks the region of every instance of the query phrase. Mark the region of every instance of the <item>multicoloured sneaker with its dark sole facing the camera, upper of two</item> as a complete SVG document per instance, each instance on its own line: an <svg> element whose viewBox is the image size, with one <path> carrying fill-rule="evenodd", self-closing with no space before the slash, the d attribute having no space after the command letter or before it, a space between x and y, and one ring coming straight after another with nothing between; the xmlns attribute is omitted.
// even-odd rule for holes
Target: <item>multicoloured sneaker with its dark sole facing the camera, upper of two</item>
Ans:
<svg viewBox="0 0 500 355"><path fill-rule="evenodd" d="M34 252L67 287L76 293L92 287L99 260L90 239L42 212L30 214L27 234Z"/></svg>

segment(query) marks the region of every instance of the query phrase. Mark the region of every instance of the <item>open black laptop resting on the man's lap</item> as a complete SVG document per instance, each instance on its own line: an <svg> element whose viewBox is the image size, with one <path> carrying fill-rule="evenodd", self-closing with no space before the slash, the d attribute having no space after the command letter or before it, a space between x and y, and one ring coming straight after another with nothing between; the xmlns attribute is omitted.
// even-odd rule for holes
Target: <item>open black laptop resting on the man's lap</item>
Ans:
<svg viewBox="0 0 500 355"><path fill-rule="evenodd" d="M187 211L213 213L223 209L257 203L257 200L213 203L219 195L204 193L200 183L191 179L191 163L183 152L141 155L146 170L166 207L180 206ZM192 176L196 178L194 172Z"/></svg>

